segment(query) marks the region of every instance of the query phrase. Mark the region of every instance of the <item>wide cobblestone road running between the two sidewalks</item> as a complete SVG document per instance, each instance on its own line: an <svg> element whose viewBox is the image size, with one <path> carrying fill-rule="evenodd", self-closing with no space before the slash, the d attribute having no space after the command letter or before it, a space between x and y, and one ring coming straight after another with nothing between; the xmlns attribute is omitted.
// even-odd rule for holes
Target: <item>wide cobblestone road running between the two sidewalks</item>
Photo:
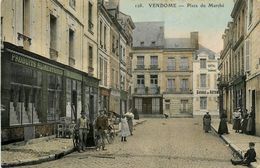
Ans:
<svg viewBox="0 0 260 168"><path fill-rule="evenodd" d="M107 145L106 151L74 152L29 167L234 168L232 152L219 137L202 131L201 118L147 119L127 142L119 139Z"/></svg>

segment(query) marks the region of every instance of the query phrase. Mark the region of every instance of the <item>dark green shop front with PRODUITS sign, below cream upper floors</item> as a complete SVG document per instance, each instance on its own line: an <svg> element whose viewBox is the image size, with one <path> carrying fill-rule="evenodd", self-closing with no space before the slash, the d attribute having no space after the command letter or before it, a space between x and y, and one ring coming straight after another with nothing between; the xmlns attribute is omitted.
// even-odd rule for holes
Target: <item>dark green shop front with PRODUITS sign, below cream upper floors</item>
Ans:
<svg viewBox="0 0 260 168"><path fill-rule="evenodd" d="M61 117L80 117L87 74L10 43L1 68L2 143L54 135Z"/></svg>

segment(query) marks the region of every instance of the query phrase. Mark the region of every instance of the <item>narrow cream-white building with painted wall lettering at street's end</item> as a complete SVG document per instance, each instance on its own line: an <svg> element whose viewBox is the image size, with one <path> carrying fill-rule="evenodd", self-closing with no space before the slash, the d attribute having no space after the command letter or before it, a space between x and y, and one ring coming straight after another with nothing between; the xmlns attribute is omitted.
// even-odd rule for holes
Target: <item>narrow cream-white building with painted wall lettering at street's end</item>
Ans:
<svg viewBox="0 0 260 168"><path fill-rule="evenodd" d="M193 114L219 114L218 59L216 53L200 46L193 60Z"/></svg>

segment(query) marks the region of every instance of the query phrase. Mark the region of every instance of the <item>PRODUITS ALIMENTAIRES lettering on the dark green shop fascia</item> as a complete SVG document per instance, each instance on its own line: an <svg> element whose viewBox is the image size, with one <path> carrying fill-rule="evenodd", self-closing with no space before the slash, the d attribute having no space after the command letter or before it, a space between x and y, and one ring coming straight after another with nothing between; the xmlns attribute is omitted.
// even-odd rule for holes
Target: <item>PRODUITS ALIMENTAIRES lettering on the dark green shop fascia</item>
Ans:
<svg viewBox="0 0 260 168"><path fill-rule="evenodd" d="M37 68L39 70L43 70L43 71L47 71L47 72L51 72L51 73L56 73L56 74L59 74L59 75L63 74L63 70L61 70L61 69L54 68L54 67L46 65L44 63L37 62L37 61L31 60L31 59L28 59L28 58L25 58L25 57L22 57L22 56L18 56L18 55L15 55L15 54L12 54L11 60L13 62L23 64L23 65L26 65L26 66L30 66L30 67L33 67L33 68Z"/></svg>

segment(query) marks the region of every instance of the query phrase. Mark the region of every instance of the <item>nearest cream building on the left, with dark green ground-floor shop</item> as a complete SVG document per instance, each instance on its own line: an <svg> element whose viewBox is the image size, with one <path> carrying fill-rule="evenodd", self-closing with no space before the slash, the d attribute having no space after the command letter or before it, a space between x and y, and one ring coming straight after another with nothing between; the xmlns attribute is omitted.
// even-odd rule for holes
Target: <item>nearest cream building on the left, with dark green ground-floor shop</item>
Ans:
<svg viewBox="0 0 260 168"><path fill-rule="evenodd" d="M97 2L1 1L2 142L55 134L98 107Z"/></svg>

